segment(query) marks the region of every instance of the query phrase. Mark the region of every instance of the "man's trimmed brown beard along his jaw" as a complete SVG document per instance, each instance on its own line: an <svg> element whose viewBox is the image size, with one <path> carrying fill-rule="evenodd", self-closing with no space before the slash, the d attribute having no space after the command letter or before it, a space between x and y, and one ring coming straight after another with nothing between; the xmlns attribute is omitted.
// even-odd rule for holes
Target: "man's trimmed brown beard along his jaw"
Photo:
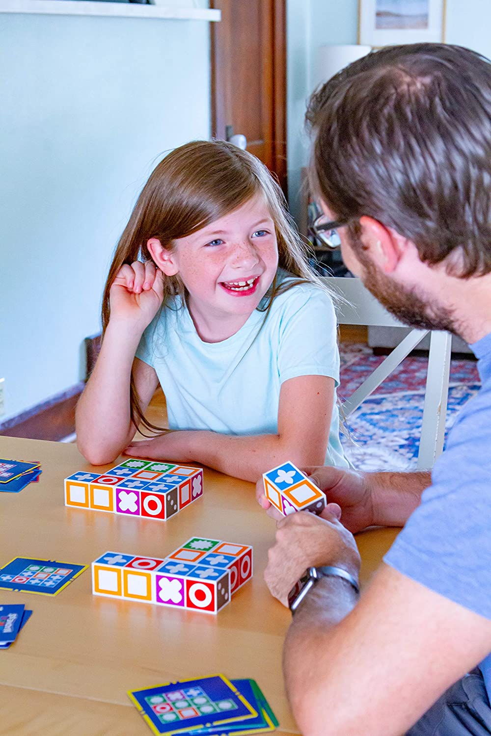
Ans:
<svg viewBox="0 0 491 736"><path fill-rule="evenodd" d="M387 278L375 268L365 255L363 244L351 236L351 247L363 266L361 280L376 300L400 322L420 330L447 330L459 334L453 312L441 305L423 300L414 291L408 291ZM354 242L353 242L354 241ZM354 246L354 247L353 247Z"/></svg>

